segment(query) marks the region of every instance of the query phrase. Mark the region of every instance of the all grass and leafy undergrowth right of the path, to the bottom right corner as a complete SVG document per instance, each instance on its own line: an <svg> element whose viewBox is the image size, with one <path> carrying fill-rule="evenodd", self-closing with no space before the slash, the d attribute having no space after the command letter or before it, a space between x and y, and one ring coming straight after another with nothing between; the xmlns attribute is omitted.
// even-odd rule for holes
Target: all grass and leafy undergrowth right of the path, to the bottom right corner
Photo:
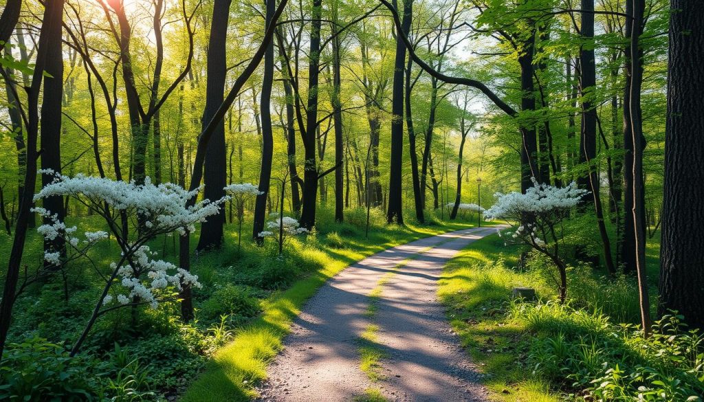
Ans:
<svg viewBox="0 0 704 402"><path fill-rule="evenodd" d="M701 400L704 337L668 316L643 339L634 325L634 277L605 277L572 261L569 300L560 305L554 269L536 255L516 268L520 251L486 237L451 260L439 281L448 318L493 400ZM647 249L653 297L658 251L653 239ZM513 287L536 289L539 303L510 301Z"/></svg>

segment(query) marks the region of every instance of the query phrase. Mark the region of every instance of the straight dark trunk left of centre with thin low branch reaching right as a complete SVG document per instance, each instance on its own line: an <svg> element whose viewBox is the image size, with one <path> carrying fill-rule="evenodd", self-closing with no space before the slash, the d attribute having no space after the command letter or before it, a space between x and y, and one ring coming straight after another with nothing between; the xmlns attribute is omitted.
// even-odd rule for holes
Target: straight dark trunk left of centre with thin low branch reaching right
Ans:
<svg viewBox="0 0 704 402"><path fill-rule="evenodd" d="M315 207L318 196L318 163L315 151L315 133L318 129L318 81L320 78L320 15L322 0L313 0L313 22L310 24L310 61L308 63L308 107L306 133L303 137L305 164L303 166L303 211L301 227L315 226Z"/></svg>

